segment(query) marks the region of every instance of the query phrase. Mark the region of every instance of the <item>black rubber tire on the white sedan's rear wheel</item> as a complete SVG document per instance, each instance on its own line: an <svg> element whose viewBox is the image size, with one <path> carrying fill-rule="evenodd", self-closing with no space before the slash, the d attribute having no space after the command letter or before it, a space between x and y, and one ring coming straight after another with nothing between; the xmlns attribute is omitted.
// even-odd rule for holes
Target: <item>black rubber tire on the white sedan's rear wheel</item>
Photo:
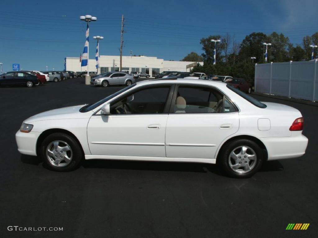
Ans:
<svg viewBox="0 0 318 238"><path fill-rule="evenodd" d="M245 147L248 148L246 150L246 154L253 154L255 153L255 160L248 160L245 159L244 156L237 156L237 160L232 159L232 156L230 158L230 154L232 153L232 151L234 150L234 153L237 154L237 152L235 151L240 151L239 153L241 153L241 148L240 147ZM237 148L237 150L235 150ZM252 149L252 150L251 150ZM233 178L249 178L252 175L254 175L257 171L259 171L259 169L261 168L263 161L264 161L264 156L263 156L263 151L262 149L259 147L259 145L251 140L248 139L239 139L239 140L235 140L235 141L231 141L226 143L221 151L219 152L220 155L218 156L218 161L217 163L219 164L219 166L221 166L221 168L223 169L223 171L225 171L225 173L227 175L229 175L230 177ZM235 156L234 156L235 157ZM246 157L246 156L245 156ZM248 156L247 156L248 158ZM231 160L231 162L229 161ZM248 170L247 172L245 172L245 165L246 162L249 164L248 166L252 167L252 169ZM230 163L233 165L237 164L238 166L241 166L239 169L237 168L238 171L235 171L234 169L231 168ZM244 169L243 169L244 168Z"/></svg>

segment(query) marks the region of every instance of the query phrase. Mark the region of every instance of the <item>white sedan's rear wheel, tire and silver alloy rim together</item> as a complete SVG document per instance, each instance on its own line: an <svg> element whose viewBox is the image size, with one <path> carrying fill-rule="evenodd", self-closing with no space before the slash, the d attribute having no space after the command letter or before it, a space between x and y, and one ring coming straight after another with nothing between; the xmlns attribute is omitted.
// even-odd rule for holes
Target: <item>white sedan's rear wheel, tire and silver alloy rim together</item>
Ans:
<svg viewBox="0 0 318 238"><path fill-rule="evenodd" d="M239 139L223 146L218 163L227 175L234 178L248 178L261 168L263 151L256 142Z"/></svg>

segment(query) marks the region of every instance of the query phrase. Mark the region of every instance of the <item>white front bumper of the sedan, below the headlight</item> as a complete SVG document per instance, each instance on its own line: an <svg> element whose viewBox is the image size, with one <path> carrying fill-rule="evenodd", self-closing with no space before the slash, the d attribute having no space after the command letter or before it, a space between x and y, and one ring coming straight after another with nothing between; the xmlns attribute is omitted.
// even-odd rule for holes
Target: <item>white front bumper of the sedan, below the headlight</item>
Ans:
<svg viewBox="0 0 318 238"><path fill-rule="evenodd" d="M41 132L24 133L18 130L16 133L18 151L24 155L37 155L36 146L40 135Z"/></svg>

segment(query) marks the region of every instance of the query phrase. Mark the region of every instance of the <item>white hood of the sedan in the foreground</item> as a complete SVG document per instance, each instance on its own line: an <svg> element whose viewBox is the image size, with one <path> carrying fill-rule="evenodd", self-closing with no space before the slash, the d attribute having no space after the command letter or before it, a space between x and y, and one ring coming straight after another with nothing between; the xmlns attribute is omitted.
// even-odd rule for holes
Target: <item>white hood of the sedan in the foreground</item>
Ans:
<svg viewBox="0 0 318 238"><path fill-rule="evenodd" d="M79 112L79 109L85 105L86 104L49 110L49 111L31 116L28 119L26 119L24 122L30 123L30 122L43 121L43 120L53 120L53 119L56 120L56 119L86 118L87 117L86 113ZM91 114L89 116L91 116Z"/></svg>

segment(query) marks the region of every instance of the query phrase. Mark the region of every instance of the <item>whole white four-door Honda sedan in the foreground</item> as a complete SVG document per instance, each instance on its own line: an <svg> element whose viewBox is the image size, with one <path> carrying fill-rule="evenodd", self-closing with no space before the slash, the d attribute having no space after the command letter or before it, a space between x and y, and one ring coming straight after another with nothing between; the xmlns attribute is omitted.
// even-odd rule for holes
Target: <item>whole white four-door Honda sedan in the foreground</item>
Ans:
<svg viewBox="0 0 318 238"><path fill-rule="evenodd" d="M218 163L249 177L267 160L304 155L299 110L259 102L226 83L150 80L94 104L26 119L18 150L48 168L69 171L82 159Z"/></svg>

